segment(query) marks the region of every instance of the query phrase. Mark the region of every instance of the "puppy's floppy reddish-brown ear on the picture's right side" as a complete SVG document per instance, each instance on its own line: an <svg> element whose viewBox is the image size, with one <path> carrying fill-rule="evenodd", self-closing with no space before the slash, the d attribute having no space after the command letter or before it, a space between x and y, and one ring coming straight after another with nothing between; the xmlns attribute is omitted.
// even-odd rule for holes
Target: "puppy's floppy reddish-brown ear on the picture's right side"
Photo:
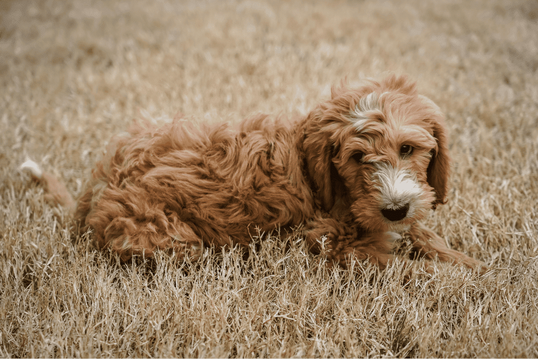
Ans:
<svg viewBox="0 0 538 359"><path fill-rule="evenodd" d="M450 173L450 157L448 155L448 135L444 126L444 116L441 109L429 98L420 96L424 102L433 106L435 111L431 118L427 119L433 129L433 136L437 142L437 148L432 150L431 160L428 165L428 184L435 190L436 199L431 204L435 210L437 205L447 203L448 176Z"/></svg>

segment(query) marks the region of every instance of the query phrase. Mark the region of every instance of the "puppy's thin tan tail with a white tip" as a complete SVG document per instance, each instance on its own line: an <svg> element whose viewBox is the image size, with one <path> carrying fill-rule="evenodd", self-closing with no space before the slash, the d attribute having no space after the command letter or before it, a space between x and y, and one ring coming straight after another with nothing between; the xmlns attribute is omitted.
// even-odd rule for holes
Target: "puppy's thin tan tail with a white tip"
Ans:
<svg viewBox="0 0 538 359"><path fill-rule="evenodd" d="M39 167L39 164L32 160L27 160L21 164L20 170L29 172L34 181L43 184L47 200L64 207L69 212L69 216L73 217L76 210L76 202L63 181L52 174L44 172Z"/></svg>

